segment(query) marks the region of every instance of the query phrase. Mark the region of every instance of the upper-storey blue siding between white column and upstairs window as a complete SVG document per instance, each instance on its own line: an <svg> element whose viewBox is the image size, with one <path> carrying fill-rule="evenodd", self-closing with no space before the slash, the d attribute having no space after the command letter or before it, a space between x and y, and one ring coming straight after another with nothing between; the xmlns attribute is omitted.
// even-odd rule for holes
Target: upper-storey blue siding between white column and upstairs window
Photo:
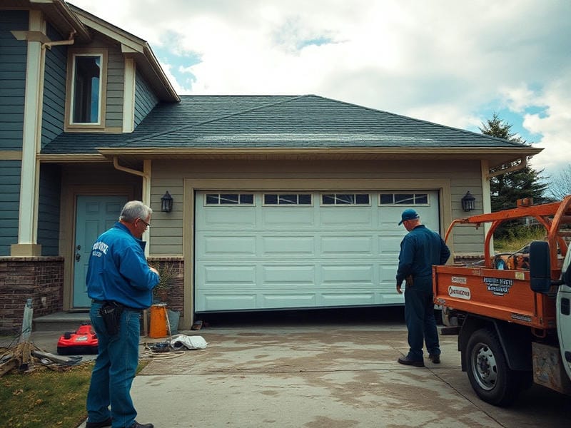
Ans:
<svg viewBox="0 0 571 428"><path fill-rule="evenodd" d="M51 25L47 28L51 40L61 36ZM44 78L44 104L41 120L41 147L64 132L66 106L67 47L54 46L46 49L46 73Z"/></svg>

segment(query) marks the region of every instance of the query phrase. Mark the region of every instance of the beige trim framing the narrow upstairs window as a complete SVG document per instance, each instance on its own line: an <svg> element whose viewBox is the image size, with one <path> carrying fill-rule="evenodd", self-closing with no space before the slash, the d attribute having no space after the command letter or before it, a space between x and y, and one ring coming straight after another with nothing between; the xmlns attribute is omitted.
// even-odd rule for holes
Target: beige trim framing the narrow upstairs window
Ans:
<svg viewBox="0 0 571 428"><path fill-rule="evenodd" d="M101 78L99 81L99 122L98 123L73 123L74 83L75 83L75 59L78 56L100 56ZM66 78L66 117L65 131L90 131L105 128L106 101L107 101L107 49L69 49Z"/></svg>

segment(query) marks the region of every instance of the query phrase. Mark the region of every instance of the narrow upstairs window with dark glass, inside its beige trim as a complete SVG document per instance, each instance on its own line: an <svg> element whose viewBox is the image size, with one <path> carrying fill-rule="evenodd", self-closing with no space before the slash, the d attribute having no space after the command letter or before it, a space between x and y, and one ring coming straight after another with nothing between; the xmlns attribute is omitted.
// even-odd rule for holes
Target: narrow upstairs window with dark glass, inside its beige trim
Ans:
<svg viewBox="0 0 571 428"><path fill-rule="evenodd" d="M101 55L75 55L71 123L101 123Z"/></svg>

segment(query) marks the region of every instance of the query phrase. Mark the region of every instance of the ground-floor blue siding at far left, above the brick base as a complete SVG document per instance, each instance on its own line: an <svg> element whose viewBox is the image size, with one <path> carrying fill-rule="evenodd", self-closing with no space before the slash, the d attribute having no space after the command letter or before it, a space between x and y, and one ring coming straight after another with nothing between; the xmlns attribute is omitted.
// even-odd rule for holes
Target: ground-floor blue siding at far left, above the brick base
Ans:
<svg viewBox="0 0 571 428"><path fill-rule="evenodd" d="M18 243L21 161L0 161L0 255Z"/></svg>

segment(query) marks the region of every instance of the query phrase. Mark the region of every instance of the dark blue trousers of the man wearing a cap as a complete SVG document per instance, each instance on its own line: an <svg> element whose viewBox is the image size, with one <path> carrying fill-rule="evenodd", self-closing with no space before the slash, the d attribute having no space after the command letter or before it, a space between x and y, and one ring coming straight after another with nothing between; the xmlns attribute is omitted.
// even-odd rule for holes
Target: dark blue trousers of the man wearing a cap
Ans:
<svg viewBox="0 0 571 428"><path fill-rule="evenodd" d="M405 288L405 321L410 360L423 360L423 342L429 354L440 355L432 277L415 277L413 286Z"/></svg>

